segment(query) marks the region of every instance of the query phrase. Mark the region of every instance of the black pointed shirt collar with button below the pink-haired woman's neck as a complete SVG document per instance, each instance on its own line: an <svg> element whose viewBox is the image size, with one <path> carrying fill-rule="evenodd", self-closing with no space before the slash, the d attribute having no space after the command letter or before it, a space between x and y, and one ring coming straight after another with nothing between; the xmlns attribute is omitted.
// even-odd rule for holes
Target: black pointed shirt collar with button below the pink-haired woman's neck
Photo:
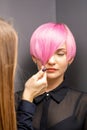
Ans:
<svg viewBox="0 0 87 130"><path fill-rule="evenodd" d="M43 101L47 97L52 98L57 103L60 103L64 99L67 91L68 91L68 85L64 81L57 88L55 88L54 90L52 90L52 91L50 91L48 93L44 93L44 94L36 97L34 99L34 103L38 104L38 103L40 103L41 101Z"/></svg>

